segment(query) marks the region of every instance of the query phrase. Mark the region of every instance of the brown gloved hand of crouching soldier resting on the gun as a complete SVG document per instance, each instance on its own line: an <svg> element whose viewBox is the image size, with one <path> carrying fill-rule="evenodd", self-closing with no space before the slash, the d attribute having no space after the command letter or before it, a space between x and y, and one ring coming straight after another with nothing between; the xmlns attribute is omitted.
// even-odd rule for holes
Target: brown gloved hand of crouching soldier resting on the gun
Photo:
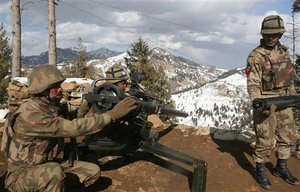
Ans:
<svg viewBox="0 0 300 192"><path fill-rule="evenodd" d="M111 117L112 120L117 120L134 110L137 107L135 102L136 101L132 97L126 97L106 113Z"/></svg>

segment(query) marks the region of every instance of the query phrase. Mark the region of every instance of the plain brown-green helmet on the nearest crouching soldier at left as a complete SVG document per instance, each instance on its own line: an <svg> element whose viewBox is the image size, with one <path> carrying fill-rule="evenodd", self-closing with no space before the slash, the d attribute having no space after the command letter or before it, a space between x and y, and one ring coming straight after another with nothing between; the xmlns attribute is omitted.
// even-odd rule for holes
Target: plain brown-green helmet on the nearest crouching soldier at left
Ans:
<svg viewBox="0 0 300 192"><path fill-rule="evenodd" d="M56 83L62 83L65 77L53 65L40 65L28 75L28 93L41 93Z"/></svg>

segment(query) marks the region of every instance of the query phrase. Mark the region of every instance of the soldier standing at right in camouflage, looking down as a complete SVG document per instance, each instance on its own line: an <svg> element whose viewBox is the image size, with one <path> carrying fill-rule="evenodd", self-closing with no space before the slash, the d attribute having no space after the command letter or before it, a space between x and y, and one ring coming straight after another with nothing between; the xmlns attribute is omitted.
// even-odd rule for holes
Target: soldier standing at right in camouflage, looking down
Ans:
<svg viewBox="0 0 300 192"><path fill-rule="evenodd" d="M285 32L280 16L267 16L261 25L260 45L247 59L247 88L250 99L296 95L294 88L295 70L291 63L287 48L279 39ZM256 163L256 180L264 189L271 189L271 182L265 173L265 163L269 162L271 148L276 141L277 164L273 175L281 177L292 185L299 185L287 168L290 148L296 141L296 127L292 108L262 113L254 111L254 127L256 145L254 161Z"/></svg>

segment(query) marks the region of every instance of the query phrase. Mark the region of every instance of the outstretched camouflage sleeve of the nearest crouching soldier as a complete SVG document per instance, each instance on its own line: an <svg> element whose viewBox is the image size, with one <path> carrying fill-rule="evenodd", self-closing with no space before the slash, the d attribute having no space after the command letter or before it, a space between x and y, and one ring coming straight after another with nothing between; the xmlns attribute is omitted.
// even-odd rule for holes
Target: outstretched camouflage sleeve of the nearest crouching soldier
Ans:
<svg viewBox="0 0 300 192"><path fill-rule="evenodd" d="M100 131L111 121L110 116L106 113L68 120L47 113L29 112L27 114L22 113L19 118L21 118L22 126L18 126L18 132L23 135L37 137L89 135Z"/></svg>

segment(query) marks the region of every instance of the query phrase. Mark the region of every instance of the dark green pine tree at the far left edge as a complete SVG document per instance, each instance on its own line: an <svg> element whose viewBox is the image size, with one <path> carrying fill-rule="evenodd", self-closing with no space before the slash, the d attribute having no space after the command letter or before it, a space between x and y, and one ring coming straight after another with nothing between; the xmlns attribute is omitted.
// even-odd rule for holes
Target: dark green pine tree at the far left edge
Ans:
<svg viewBox="0 0 300 192"><path fill-rule="evenodd" d="M8 37L4 30L3 23L0 26L0 103L3 104L7 100L7 86L10 81L10 60L11 49L8 45Z"/></svg>

